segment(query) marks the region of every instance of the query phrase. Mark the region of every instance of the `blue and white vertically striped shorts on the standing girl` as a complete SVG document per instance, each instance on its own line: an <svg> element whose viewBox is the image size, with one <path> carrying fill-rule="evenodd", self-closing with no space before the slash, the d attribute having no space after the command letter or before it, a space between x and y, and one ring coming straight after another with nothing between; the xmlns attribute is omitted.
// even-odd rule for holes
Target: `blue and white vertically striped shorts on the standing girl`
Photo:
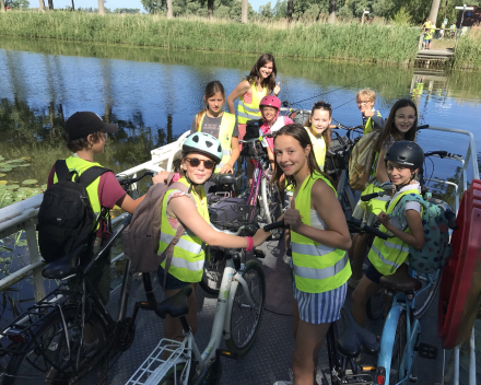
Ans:
<svg viewBox="0 0 481 385"><path fill-rule="evenodd" d="M305 323L314 325L328 324L341 317L341 307L344 305L348 283L324 293L306 293L297 289L294 279L293 289L300 318Z"/></svg>

